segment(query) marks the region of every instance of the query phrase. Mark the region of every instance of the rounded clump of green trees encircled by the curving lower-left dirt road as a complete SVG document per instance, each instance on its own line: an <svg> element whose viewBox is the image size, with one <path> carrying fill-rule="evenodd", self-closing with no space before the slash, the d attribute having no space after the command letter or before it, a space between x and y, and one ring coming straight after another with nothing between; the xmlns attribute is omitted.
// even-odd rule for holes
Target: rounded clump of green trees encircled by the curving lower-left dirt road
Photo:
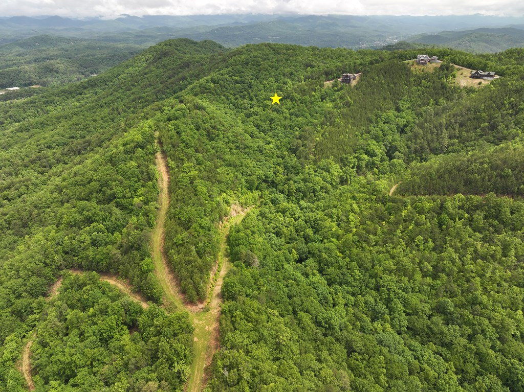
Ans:
<svg viewBox="0 0 524 392"><path fill-rule="evenodd" d="M95 273L67 275L35 330L35 382L68 391L180 390L192 331L187 313L143 310Z"/></svg>

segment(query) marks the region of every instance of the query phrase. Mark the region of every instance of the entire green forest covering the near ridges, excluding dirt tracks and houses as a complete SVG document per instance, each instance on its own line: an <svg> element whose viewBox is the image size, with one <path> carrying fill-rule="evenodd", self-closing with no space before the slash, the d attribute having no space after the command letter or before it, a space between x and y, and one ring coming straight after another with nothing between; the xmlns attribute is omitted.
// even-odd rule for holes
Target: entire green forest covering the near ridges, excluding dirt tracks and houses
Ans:
<svg viewBox="0 0 524 392"><path fill-rule="evenodd" d="M441 67L413 72L409 49L170 40L4 99L0 389L24 390L34 339L36 390L183 390L190 317L161 308L149 253L161 148L187 301L231 205L252 207L230 229L206 390L523 391L524 51L431 54ZM451 63L501 77L461 88Z"/></svg>

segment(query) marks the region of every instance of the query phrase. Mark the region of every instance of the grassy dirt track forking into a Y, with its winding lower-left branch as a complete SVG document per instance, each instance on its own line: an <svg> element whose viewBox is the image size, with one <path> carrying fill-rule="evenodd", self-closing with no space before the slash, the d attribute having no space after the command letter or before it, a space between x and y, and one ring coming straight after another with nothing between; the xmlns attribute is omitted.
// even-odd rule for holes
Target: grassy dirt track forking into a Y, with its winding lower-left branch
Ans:
<svg viewBox="0 0 524 392"><path fill-rule="evenodd" d="M208 366L211 364L214 353L219 349L219 317L220 307L222 304L221 289L224 276L228 270L228 258L226 254L226 239L231 226L237 225L242 221L249 209L241 208L237 205L232 206L231 215L222 222L221 242L219 259L213 268L210 278L210 288L212 293L208 296L209 301L206 304L198 305L186 303L181 290L178 287L177 279L170 271L166 252L163 246L165 238L165 221L169 208L169 172L166 157L161 151L156 155L156 166L159 173L158 187L160 190L158 196L158 216L154 231L151 233L151 256L155 265L155 273L163 291L163 306L168 311L188 311L189 319L194 326L194 349L195 356L190 367L188 383L185 386L187 392L201 392L207 379L209 378ZM72 270L75 274L81 274L82 271ZM140 295L133 293L130 286L120 281L117 277L108 274L101 274L100 279L108 282L125 294L138 301L143 308L149 304ZM213 284L214 282L214 284ZM58 289L62 283L60 278L50 291L47 300L50 300L58 294ZM36 334L26 343L20 365L20 371L24 374L27 387L29 390L35 390L35 385L31 376L31 345L36 339Z"/></svg>

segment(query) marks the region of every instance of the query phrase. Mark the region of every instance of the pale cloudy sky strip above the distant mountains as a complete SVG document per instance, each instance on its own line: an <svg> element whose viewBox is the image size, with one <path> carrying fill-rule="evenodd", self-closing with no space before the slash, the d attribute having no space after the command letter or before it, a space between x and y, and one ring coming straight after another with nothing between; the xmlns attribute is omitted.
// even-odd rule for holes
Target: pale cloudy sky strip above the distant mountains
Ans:
<svg viewBox="0 0 524 392"><path fill-rule="evenodd" d="M0 16L196 14L524 15L520 0L0 0Z"/></svg>

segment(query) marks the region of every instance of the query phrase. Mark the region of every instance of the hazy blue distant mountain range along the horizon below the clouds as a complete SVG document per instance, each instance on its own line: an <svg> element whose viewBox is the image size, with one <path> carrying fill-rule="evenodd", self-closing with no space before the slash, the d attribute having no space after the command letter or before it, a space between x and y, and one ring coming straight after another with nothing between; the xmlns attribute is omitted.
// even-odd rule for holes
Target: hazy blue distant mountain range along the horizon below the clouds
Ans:
<svg viewBox="0 0 524 392"><path fill-rule="evenodd" d="M72 19L0 18L0 45L42 34L150 46L170 38L210 39L227 47L281 42L380 48L401 40L472 52L523 46L524 18L467 16L193 15Z"/></svg>

